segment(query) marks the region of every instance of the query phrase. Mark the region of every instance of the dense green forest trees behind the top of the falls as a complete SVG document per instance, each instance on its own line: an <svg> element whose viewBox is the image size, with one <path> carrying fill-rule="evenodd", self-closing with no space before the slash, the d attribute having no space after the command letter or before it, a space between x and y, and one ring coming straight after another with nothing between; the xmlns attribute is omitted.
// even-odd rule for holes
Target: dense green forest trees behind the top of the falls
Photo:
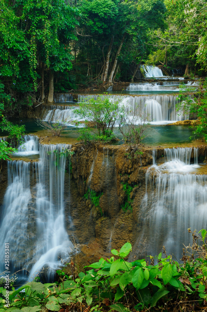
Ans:
<svg viewBox="0 0 207 312"><path fill-rule="evenodd" d="M205 75L203 0L1 0L1 109L133 81L141 64Z"/></svg>

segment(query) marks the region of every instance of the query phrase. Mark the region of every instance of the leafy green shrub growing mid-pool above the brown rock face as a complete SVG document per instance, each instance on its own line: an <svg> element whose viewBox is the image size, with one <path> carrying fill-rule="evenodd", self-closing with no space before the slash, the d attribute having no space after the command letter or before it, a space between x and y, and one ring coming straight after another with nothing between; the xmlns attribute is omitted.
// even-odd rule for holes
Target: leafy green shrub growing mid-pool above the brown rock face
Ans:
<svg viewBox="0 0 207 312"><path fill-rule="evenodd" d="M99 134L94 136L94 139L107 141L114 138L113 128L123 118L125 110L118 98L111 100L108 96L98 96L96 100L92 98L81 102L79 109L74 110L74 113L95 124ZM89 137L89 130L82 131L82 137L83 134L85 141L87 136Z"/></svg>

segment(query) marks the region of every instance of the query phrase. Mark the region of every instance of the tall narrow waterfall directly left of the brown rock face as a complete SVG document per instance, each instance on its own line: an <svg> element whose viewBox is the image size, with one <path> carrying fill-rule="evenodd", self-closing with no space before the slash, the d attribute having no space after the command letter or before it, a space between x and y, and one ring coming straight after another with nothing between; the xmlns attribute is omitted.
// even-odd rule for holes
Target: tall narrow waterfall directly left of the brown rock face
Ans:
<svg viewBox="0 0 207 312"><path fill-rule="evenodd" d="M62 152L70 145L40 145L40 161L36 163L36 227L37 241L30 279L33 279L42 267L47 266L49 273L69 259L73 245L69 240L64 223L64 178L65 156L53 153ZM51 152L50 156L48 152ZM34 260L34 259L33 259ZM48 275L48 273L47 273Z"/></svg>

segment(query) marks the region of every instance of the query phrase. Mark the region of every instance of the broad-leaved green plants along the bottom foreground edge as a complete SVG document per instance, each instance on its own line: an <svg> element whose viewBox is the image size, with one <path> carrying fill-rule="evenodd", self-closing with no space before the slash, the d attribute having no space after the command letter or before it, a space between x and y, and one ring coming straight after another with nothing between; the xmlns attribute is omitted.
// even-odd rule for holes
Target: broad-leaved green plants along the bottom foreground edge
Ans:
<svg viewBox="0 0 207 312"><path fill-rule="evenodd" d="M206 230L200 231L204 242L200 247L196 232L188 231L192 234L193 246L188 246L190 251L187 254L183 251L182 264L172 261L164 247L163 257L162 252L156 257L150 256L150 265L145 259L128 262L126 257L132 251L132 245L127 242L119 251L112 249L110 259L100 258L87 266L86 273L69 276L58 270L60 282L41 284L33 281L18 290L12 288L7 311L37 312L43 307L57 311L72 304L87 304L92 306L91 311L99 311L102 310L102 301L106 299L112 303L111 309L118 312L129 312L129 306L130 310L134 307L138 311L154 311L156 306L169 310L180 302L182 310L186 310L195 300L201 309L205 308ZM155 265L154 260L157 261ZM1 287L0 292L3 298L5 289ZM1 311L6 310L3 301L0 300Z"/></svg>

